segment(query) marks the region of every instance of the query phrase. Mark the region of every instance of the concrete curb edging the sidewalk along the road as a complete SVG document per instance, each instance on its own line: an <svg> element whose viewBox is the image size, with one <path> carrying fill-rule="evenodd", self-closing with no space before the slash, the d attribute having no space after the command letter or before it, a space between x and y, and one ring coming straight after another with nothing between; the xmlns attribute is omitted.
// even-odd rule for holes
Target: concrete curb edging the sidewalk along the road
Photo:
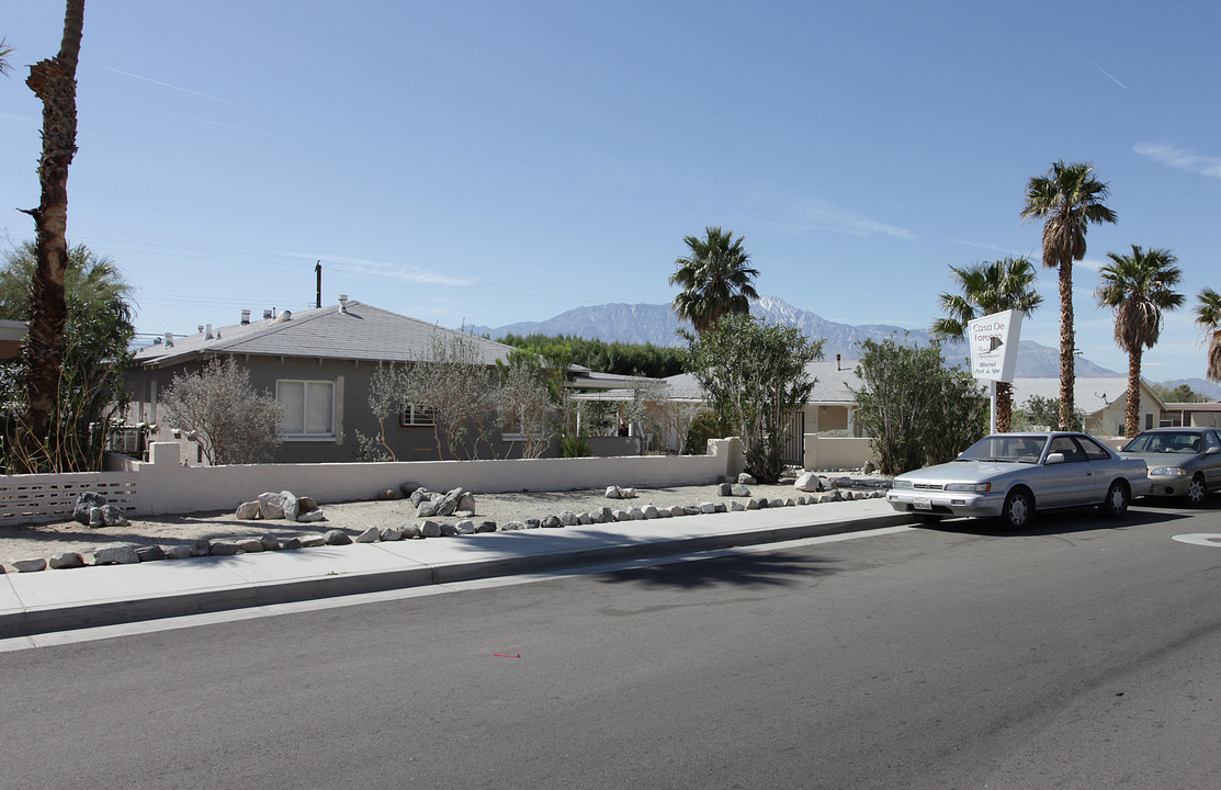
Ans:
<svg viewBox="0 0 1221 790"><path fill-rule="evenodd" d="M542 553L521 554L490 551L487 556L473 557L469 560L421 563L403 559L402 564L404 567L402 568L380 569L368 573L330 571L325 575L311 575L292 580L230 582L210 589L165 595L100 598L51 607L20 606L10 608L7 612L0 612L0 639L457 581L492 579L617 560L647 559L736 546L756 546L759 543L907 524L911 524L911 518L901 513L868 515L863 518L846 516L816 524L762 526L758 529L741 529L703 536L658 537L643 542L632 542L629 538L624 538L624 542L619 545L603 545L593 548L586 545L574 546L571 549L560 548ZM230 558L211 559L222 563ZM70 574L81 571L54 573Z"/></svg>

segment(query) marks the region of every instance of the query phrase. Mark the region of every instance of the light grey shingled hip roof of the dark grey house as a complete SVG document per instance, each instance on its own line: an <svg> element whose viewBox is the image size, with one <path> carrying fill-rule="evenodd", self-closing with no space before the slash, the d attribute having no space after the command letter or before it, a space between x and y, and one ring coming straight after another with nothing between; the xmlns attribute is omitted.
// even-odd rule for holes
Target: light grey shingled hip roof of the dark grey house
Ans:
<svg viewBox="0 0 1221 790"><path fill-rule="evenodd" d="M300 313L281 313L274 319L222 326L210 335L199 332L155 343L136 353L134 364L166 368L217 355L306 357L361 361L426 361L432 358L432 338L459 332L436 324L382 310L359 302L327 305ZM504 343L465 336L475 343L487 365L508 359Z"/></svg>

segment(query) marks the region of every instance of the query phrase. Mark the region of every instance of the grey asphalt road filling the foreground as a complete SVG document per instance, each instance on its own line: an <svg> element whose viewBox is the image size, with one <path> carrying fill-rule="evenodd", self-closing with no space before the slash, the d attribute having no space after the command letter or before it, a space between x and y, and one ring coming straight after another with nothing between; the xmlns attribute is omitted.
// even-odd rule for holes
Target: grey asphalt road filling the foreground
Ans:
<svg viewBox="0 0 1221 790"><path fill-rule="evenodd" d="M1221 502L0 653L4 788L1216 788Z"/></svg>

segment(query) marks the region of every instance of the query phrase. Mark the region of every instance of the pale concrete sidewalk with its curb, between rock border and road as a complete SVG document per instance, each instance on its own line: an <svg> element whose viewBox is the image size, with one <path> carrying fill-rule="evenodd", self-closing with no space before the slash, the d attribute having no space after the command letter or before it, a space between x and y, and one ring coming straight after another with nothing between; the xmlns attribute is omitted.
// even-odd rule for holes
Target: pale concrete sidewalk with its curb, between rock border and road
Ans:
<svg viewBox="0 0 1221 790"><path fill-rule="evenodd" d="M906 525L885 499L0 576L0 639Z"/></svg>

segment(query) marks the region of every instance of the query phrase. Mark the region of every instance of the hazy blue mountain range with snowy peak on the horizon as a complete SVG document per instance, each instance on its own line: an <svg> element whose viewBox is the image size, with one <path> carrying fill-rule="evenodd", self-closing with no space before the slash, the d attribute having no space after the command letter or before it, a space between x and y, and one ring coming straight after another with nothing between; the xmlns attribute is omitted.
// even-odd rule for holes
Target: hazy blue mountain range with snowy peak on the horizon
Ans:
<svg viewBox="0 0 1221 790"><path fill-rule="evenodd" d="M924 330L905 330L886 324L836 324L828 321L808 310L796 308L779 297L759 297L751 303L751 314L774 324L799 327L807 336L823 338L823 355L834 359L842 354L844 359L860 357L860 343L866 338L882 341L890 336L906 338L911 342L927 343L929 335ZM576 308L560 313L546 321L523 321L501 327L466 327L474 335L485 335L493 339L505 335L571 335L585 339L604 341L607 343L652 343L654 346L681 346L678 335L678 317L669 304L598 304ZM963 360L968 357L966 343L945 343L943 354L946 360ZM1021 341L1017 354L1017 375L1026 377L1055 379L1060 375L1060 349L1050 348L1034 341ZM1088 359L1077 358L1077 375L1082 377L1120 376L1096 365ZM1193 386L1193 388L1195 388ZM1203 390L1197 390L1203 392Z"/></svg>

